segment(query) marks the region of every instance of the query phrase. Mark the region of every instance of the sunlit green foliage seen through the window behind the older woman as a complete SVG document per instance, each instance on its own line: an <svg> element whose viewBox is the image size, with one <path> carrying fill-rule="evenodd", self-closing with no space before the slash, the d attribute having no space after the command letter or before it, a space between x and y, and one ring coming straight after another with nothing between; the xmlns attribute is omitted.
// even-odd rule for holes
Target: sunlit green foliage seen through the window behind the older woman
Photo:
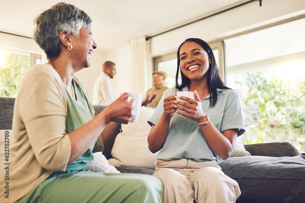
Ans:
<svg viewBox="0 0 305 203"><path fill-rule="evenodd" d="M20 81L30 69L31 56L4 53L0 66L0 96L16 97Z"/></svg>

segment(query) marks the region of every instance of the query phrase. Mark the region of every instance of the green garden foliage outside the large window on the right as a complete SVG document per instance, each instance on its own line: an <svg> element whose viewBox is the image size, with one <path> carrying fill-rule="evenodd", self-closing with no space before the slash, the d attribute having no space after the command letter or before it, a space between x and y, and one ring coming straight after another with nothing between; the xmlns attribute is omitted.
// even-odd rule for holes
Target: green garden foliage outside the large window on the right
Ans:
<svg viewBox="0 0 305 203"><path fill-rule="evenodd" d="M244 101L246 142L290 142L305 134L305 80L289 81L274 75L267 79L263 70L247 73Z"/></svg>

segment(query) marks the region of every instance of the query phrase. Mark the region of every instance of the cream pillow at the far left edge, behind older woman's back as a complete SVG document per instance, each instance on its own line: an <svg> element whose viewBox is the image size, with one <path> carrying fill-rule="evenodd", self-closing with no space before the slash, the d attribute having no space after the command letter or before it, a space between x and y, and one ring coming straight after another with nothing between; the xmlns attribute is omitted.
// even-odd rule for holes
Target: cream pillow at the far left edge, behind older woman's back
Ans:
<svg viewBox="0 0 305 203"><path fill-rule="evenodd" d="M0 130L0 175L4 171L4 164L11 163L12 161L10 149L13 141L14 136L12 130Z"/></svg>

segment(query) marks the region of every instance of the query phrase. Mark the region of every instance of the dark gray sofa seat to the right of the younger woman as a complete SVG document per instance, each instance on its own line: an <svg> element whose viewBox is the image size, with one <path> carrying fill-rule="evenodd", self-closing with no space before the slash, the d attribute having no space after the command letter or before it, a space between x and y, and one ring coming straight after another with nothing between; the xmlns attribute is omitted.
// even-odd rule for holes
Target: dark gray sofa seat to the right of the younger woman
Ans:
<svg viewBox="0 0 305 203"><path fill-rule="evenodd" d="M244 156L224 160L222 171L242 192L236 202L303 202L305 156Z"/></svg>

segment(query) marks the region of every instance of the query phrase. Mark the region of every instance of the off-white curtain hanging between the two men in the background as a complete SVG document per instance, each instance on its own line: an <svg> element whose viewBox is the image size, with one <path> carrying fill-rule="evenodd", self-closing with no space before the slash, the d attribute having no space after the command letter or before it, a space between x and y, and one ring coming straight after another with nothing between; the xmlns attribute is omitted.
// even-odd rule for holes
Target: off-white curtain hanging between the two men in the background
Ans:
<svg viewBox="0 0 305 203"><path fill-rule="evenodd" d="M132 46L132 93L142 93L144 98L148 89L152 88L152 58L150 54L150 40L145 36L135 39Z"/></svg>

